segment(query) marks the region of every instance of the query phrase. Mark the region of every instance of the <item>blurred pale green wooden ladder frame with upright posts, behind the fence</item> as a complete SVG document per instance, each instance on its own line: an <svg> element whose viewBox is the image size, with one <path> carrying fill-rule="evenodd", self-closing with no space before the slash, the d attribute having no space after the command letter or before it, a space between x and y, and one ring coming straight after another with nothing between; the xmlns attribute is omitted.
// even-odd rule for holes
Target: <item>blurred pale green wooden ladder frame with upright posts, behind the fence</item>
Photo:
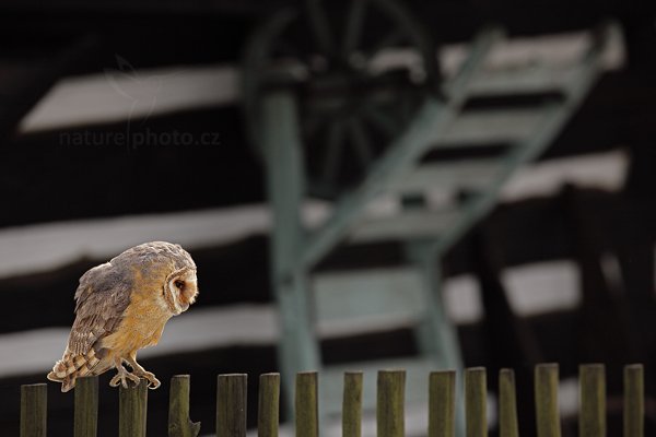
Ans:
<svg viewBox="0 0 656 437"><path fill-rule="evenodd" d="M371 379L375 378L375 369L406 368L409 402L427 399L422 379L427 370L462 369L456 330L442 299L440 260L492 210L508 178L537 158L559 134L606 68L605 50L619 34L614 24L590 33L587 51L566 74L547 66L492 76L484 71L484 63L504 35L499 28L483 29L469 46L459 71L444 84L443 96L425 99L407 128L366 168L359 184L341 192L328 217L315 227L306 224L302 213L307 200L307 174L297 95L282 86L262 96L259 141L274 222L271 271L280 310L279 354L288 400L294 399L297 371L321 370L320 395L328 400L341 397L343 370L365 370L366 409L375 400L375 380ZM481 91L513 94L554 86L560 97L536 107L493 108L475 114L464 110L465 103ZM447 144L481 147L500 141L512 144L501 156L449 163L422 161L427 152ZM399 208L383 216L367 213L372 203L382 198L423 199L431 187L465 189L471 194L457 204L437 209L419 202L418 206ZM379 240L402 241L408 267L313 272L338 245ZM419 356L324 365L317 327L355 317L380 320L386 314L390 319L406 318L413 323ZM326 404L338 403L323 402ZM331 413L328 409L324 412ZM461 412L458 417L458 435L464 435Z"/></svg>

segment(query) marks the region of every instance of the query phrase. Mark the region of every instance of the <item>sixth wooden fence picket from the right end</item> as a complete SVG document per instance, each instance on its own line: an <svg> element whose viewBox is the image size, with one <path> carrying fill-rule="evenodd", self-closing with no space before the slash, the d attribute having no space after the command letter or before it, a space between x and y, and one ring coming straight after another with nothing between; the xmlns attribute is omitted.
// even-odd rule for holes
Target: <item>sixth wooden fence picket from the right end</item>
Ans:
<svg viewBox="0 0 656 437"><path fill-rule="evenodd" d="M456 433L456 370L432 371L429 377L429 437Z"/></svg>

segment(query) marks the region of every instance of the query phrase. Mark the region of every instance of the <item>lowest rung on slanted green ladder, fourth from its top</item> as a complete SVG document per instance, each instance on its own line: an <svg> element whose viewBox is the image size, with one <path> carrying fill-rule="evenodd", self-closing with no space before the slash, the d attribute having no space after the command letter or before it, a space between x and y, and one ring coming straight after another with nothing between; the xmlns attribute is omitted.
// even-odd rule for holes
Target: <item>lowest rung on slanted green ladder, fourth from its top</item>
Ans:
<svg viewBox="0 0 656 437"><path fill-rule="evenodd" d="M435 238L457 216L456 210L444 212L403 211L386 217L365 218L350 233L352 243Z"/></svg>

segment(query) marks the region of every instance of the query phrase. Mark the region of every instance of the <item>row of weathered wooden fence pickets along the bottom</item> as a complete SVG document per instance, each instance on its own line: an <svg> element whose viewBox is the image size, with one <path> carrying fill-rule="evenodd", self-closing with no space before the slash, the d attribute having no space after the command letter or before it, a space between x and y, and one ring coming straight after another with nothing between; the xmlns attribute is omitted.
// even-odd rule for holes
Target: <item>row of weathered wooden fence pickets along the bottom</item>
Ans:
<svg viewBox="0 0 656 437"><path fill-rule="evenodd" d="M219 375L216 386L218 437L246 436L246 380L243 374ZM405 435L405 370L380 370L377 379L376 421L379 437ZM559 368L541 364L535 369L535 402L538 437L560 437L558 408ZM314 371L296 376L296 436L317 437L318 375ZM343 437L360 437L362 425L362 373L344 374L342 403ZM456 373L431 373L429 390L429 437L455 434ZM579 436L606 436L606 376L599 364L579 367ZM145 436L147 394L144 383L119 389L119 436ZM97 377L78 380L74 390L74 436L96 436L98 411ZM258 399L258 436L277 437L279 425L279 374L260 375ZM465 370L465 411L467 437L488 435L487 373L482 367ZM642 365L624 368L624 437L644 437L644 375ZM21 387L21 437L46 436L47 394L45 383ZM515 379L511 369L499 377L499 426L501 437L517 437ZM199 423L189 420L189 376L175 376L171 381L168 436L197 436ZM207 429L206 429L207 432Z"/></svg>

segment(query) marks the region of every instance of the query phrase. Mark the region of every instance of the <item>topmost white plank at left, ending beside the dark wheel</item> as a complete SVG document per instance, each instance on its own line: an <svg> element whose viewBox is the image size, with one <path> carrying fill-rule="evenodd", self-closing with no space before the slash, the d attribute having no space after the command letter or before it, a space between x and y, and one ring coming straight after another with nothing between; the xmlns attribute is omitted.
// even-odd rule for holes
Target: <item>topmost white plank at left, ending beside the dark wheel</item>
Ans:
<svg viewBox="0 0 656 437"><path fill-rule="evenodd" d="M129 62L107 66L104 73L57 82L23 119L20 131L136 120L229 105L238 98L238 71L233 66L140 70Z"/></svg>

